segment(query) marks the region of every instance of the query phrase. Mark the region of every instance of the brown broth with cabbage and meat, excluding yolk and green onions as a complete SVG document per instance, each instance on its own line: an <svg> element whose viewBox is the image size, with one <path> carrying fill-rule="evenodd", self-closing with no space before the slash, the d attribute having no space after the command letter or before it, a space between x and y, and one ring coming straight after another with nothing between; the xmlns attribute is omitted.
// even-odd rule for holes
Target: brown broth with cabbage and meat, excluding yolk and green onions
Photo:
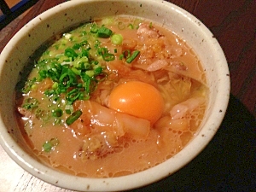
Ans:
<svg viewBox="0 0 256 192"><path fill-rule="evenodd" d="M102 22L114 33L122 34L124 40L122 45L114 45L109 38L101 38L102 46L114 53L115 60L101 61L108 78L97 84L90 100L73 103L74 109L83 111L78 120L67 125L67 113L63 113L61 118L52 118L50 114L55 103L44 95L44 90L54 84L50 79L37 81L35 88L16 101L20 111L17 121L32 151L47 165L81 177L119 177L159 165L195 137L207 107L206 75L201 61L183 39L148 20L130 17L97 20L98 25ZM137 32L137 25L134 29L127 27L131 23L140 23L142 33ZM76 32L65 34L66 37L70 37L69 34L79 37ZM49 47L49 55L44 54L39 60L61 54L63 49L56 50L58 42ZM66 45L72 44L69 40ZM127 64L119 60L125 49L141 52L135 61ZM93 55L97 57L96 52ZM148 71L148 66L154 61L166 61L168 65ZM37 69L33 69L28 79L37 76ZM148 132L145 128L143 136L137 136L137 123L134 123L137 121L134 120L143 125L147 120L131 118L129 122L133 125L130 130L119 130L114 124L119 122L122 114L108 108L111 91L128 81L153 85L165 102L160 119L154 125L150 124ZM21 108L31 97L38 99L38 108L43 109L43 113ZM62 104L59 103L58 107L64 111L65 96L61 94L60 98ZM43 144L53 138L57 138L58 144L45 152Z"/></svg>

